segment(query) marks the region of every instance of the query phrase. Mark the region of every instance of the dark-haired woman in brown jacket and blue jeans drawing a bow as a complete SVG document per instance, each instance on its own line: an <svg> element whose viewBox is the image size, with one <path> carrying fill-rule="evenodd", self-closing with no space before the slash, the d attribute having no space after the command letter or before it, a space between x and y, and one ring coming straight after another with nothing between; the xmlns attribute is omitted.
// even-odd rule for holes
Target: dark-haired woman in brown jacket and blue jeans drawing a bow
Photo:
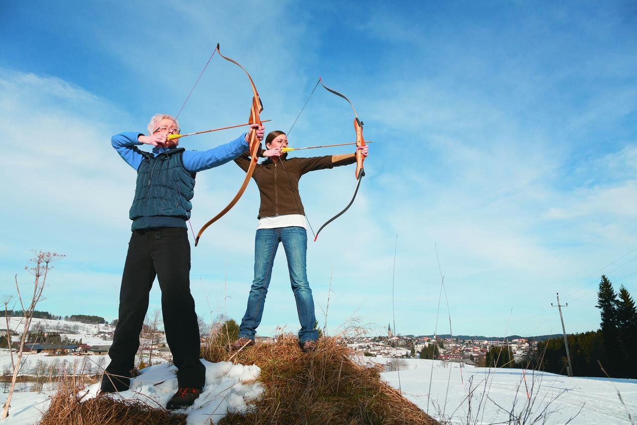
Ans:
<svg viewBox="0 0 637 425"><path fill-rule="evenodd" d="M316 348L318 332L314 329L314 300L306 272L308 236L305 213L299 195L299 179L306 172L340 167L356 162L355 154L315 156L313 158L290 158L282 154L287 147L283 131L272 131L266 137L266 151L261 155L268 160L257 165L252 178L257 182L261 194L259 225L254 246L254 281L248 295L248 306L239 327L239 338L230 345L231 351L254 345L254 336L261 323L263 306L268 293L276 249L283 243L290 283L296 299L296 308L301 323L299 343L303 352ZM363 156L368 147L358 147ZM250 165L248 154L234 160L243 170Z"/></svg>

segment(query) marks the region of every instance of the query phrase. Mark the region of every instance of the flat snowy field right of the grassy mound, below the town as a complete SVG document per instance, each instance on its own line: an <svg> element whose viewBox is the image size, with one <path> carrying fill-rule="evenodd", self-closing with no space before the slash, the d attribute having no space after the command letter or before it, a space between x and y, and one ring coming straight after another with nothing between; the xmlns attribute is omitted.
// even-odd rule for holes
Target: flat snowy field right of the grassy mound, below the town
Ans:
<svg viewBox="0 0 637 425"><path fill-rule="evenodd" d="M378 357L373 360L381 364L392 361ZM422 410L427 410L427 392L431 377L428 411L439 420L444 417L458 424L508 423L510 410L513 409L517 415L527 405L522 369L489 371L486 368L466 365L461 368L459 363L420 359L401 359L398 364L401 366L399 370L382 373L383 379L392 387L400 388L403 395ZM470 379L471 390L474 390L471 393L471 412L468 402L468 394L471 391ZM632 415L633 422L637 423L637 380L568 378L554 373L533 375L533 371L526 371L526 384L533 401L530 415L532 419L527 423L533 422L533 419L543 413L547 414L547 421L540 419L536 423L564 424L576 415L569 423L630 424L628 413ZM624 404L620 401L617 391L620 392ZM478 410L483 394L488 394L488 397L485 395ZM582 410L578 414L580 408ZM470 421L467 420L468 417Z"/></svg>

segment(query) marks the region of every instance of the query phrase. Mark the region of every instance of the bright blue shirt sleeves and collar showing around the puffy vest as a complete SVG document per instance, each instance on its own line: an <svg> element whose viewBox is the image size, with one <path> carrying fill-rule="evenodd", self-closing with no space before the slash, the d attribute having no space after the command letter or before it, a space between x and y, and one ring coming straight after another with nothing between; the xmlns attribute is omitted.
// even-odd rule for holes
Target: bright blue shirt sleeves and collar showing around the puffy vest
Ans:
<svg viewBox="0 0 637 425"><path fill-rule="evenodd" d="M136 133L134 131L127 131L125 133L119 133L111 137L111 144L115 148L118 154L130 165L134 170L140 168L143 155L138 148L138 145L143 145L137 141L137 138L143 135L143 133ZM248 144L245 141L246 133L243 133L240 137L234 139L232 142L218 145L207 151L184 151L182 154L183 167L191 172L196 173L209 168L218 167L225 163L234 160L237 156L244 153L248 149ZM153 154L155 157L166 152L165 147L153 147Z"/></svg>

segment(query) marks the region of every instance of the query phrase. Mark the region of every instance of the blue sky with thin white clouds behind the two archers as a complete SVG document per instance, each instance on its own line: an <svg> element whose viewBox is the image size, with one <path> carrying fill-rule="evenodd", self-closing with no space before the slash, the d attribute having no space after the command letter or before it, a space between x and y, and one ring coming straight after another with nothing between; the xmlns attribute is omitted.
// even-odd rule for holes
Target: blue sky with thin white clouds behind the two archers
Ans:
<svg viewBox="0 0 637 425"><path fill-rule="evenodd" d="M2 294L31 250L67 257L40 309L117 316L135 174L110 146L176 114L216 43L254 78L266 130L287 131L322 76L375 140L350 210L310 241L324 325L392 321L431 334L440 272L454 334L597 329L605 272L637 295L637 6L634 2L17 2L0 6L5 143ZM245 122L245 75L213 57L183 131ZM229 130L184 139L207 149ZM354 140L346 102L318 90L290 145ZM348 147L313 151L347 153ZM233 197L233 163L197 175L193 227ZM353 167L315 172L301 196L315 230L354 191ZM254 184L192 249L197 312L240 320L252 281ZM192 241L191 241L192 242ZM615 261L617 260L617 261ZM633 274L636 273L636 274ZM152 290L149 311L159 308ZM509 317L510 321L509 321ZM438 333L448 333L441 303ZM298 329L280 250L259 333Z"/></svg>

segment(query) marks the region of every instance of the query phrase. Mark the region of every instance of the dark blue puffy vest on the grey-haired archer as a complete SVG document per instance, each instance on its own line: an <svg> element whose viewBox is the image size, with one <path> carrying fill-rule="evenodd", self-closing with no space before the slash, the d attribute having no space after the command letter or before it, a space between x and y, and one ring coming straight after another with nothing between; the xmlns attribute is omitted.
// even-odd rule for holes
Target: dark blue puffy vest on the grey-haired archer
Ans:
<svg viewBox="0 0 637 425"><path fill-rule="evenodd" d="M149 227L186 227L194 196L195 174L183 167L185 149L159 154L141 152L137 187L129 218L132 230Z"/></svg>

